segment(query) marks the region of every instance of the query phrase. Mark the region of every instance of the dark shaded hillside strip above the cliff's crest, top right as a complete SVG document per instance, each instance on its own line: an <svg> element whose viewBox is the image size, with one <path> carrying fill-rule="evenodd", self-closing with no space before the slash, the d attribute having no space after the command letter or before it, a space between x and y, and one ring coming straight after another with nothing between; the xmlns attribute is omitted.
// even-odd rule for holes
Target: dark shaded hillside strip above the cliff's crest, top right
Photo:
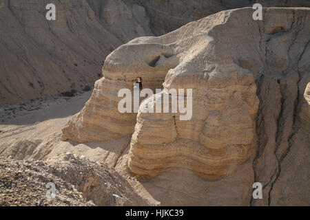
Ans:
<svg viewBox="0 0 310 220"><path fill-rule="evenodd" d="M190 21L196 21L210 14L233 8L252 7L260 3L262 7L310 7L309 1L282 0L212 0L212 1L180 1L180 0L134 0L142 5L150 19L152 32L157 35L166 34L180 28Z"/></svg>

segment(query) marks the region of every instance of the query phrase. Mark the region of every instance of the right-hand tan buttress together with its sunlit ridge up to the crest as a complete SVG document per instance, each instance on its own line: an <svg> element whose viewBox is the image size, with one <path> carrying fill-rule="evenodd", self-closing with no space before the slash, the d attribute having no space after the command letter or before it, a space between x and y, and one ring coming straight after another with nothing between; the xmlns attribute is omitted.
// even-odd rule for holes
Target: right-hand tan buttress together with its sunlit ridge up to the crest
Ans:
<svg viewBox="0 0 310 220"><path fill-rule="evenodd" d="M167 168L183 167L216 179L249 158L259 103L256 73L241 67L236 62L241 54L231 56L225 42L242 37L247 44L238 46L249 53L255 50L245 36L235 34L231 39L226 34L238 25L234 19L245 14L246 10L220 12L165 36L131 42L172 45L178 65L169 69L163 87L192 89L190 120L180 119L183 113L138 113L130 146L133 173L152 177ZM154 97L155 102L160 95Z"/></svg>

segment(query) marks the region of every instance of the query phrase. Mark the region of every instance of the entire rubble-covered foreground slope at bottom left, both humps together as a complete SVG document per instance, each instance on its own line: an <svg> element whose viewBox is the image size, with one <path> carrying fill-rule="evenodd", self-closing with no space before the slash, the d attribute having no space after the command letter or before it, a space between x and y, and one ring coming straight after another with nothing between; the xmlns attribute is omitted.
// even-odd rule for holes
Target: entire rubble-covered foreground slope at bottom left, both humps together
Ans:
<svg viewBox="0 0 310 220"><path fill-rule="evenodd" d="M0 157L1 206L146 206L148 203L106 164L72 153L39 162ZM55 197L45 197L55 184Z"/></svg>

